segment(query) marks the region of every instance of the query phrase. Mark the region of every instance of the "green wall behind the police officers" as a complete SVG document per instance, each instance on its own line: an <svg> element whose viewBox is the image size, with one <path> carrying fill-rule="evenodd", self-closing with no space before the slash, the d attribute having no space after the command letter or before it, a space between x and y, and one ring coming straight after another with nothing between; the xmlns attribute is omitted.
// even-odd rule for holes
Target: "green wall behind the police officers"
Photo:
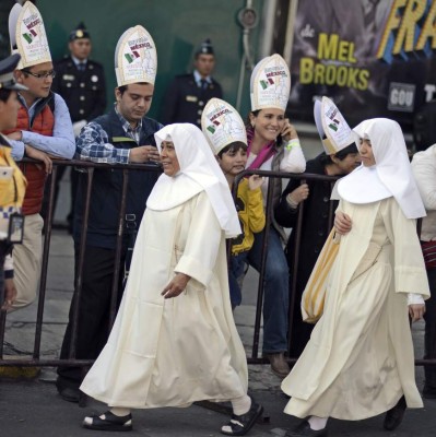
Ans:
<svg viewBox="0 0 436 437"><path fill-rule="evenodd" d="M261 13L264 0L255 0ZM93 39L93 59L105 67L108 102L116 86L114 52L120 35L131 26L143 25L157 47L157 78L150 116L160 118L161 99L175 74L190 71L197 46L210 37L216 54L214 76L224 90L224 98L236 104L243 56L243 28L237 13L244 0L37 0L54 59L67 54L68 35L83 21ZM259 27L251 34L251 51L257 55ZM258 58L256 57L256 60ZM240 115L249 110L249 78L246 71Z"/></svg>

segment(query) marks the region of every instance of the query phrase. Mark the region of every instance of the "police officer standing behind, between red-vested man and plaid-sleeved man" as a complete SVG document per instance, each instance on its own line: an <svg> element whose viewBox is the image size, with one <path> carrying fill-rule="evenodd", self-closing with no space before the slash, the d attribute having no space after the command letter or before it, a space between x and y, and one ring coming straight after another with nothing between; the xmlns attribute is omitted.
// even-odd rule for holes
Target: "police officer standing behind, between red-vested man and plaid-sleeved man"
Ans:
<svg viewBox="0 0 436 437"><path fill-rule="evenodd" d="M74 137L79 137L81 129L87 121L105 113L105 75L102 64L89 59L92 50L91 36L83 23L80 23L70 33L68 48L70 55L55 63L57 75L54 79L51 88L64 98L73 122ZM59 192L59 181L66 168L58 168L55 201ZM70 232L78 184L76 178L76 172L71 169L71 206L67 217ZM46 208L47 196L44 210Z"/></svg>

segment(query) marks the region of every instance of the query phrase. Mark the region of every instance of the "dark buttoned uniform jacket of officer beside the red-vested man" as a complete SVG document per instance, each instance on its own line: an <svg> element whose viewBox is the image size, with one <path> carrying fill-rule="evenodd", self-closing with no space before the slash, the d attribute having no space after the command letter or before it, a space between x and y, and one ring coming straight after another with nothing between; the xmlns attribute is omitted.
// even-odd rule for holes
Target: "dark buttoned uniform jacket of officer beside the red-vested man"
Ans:
<svg viewBox="0 0 436 437"><path fill-rule="evenodd" d="M106 110L106 84L102 64L86 62L79 71L70 56L55 63L51 90L60 94L70 110L72 122L91 121Z"/></svg>

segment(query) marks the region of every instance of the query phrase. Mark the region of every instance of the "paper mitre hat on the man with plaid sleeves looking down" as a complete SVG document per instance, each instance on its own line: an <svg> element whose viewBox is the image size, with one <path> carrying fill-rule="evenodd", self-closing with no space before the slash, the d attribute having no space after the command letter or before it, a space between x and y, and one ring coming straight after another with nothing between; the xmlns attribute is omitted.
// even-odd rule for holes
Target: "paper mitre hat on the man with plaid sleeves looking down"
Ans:
<svg viewBox="0 0 436 437"><path fill-rule="evenodd" d="M154 84L157 54L153 38L144 27L128 28L115 49L115 73L118 86L146 82Z"/></svg>

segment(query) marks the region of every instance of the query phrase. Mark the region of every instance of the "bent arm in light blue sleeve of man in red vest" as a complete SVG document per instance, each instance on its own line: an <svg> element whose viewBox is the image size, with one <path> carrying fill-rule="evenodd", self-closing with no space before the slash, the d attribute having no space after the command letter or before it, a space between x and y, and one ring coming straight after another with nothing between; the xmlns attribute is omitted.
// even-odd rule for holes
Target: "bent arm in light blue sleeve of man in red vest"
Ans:
<svg viewBox="0 0 436 437"><path fill-rule="evenodd" d="M55 98L55 126L51 137L23 130L21 141L52 157L72 160L75 152L74 134L67 104L59 94Z"/></svg>

